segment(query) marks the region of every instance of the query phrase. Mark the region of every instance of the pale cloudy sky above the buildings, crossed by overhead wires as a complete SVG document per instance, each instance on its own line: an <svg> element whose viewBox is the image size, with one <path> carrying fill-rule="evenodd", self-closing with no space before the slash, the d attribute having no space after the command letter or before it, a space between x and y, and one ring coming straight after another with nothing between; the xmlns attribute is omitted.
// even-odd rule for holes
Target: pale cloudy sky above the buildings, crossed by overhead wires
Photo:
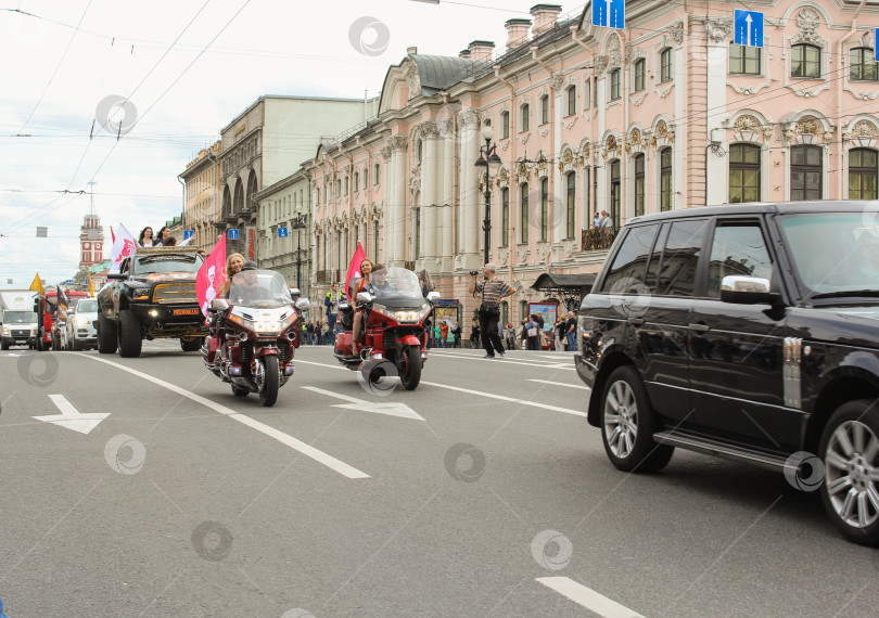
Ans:
<svg viewBox="0 0 879 618"><path fill-rule="evenodd" d="M26 287L37 271L49 283L73 276L90 197L105 256L110 226L135 233L179 215L177 175L259 95L374 96L407 47L457 55L486 39L500 50L504 22L535 3L5 0L0 288ZM365 17L377 27L353 36ZM114 96L129 101L111 117L118 140L102 118Z"/></svg>

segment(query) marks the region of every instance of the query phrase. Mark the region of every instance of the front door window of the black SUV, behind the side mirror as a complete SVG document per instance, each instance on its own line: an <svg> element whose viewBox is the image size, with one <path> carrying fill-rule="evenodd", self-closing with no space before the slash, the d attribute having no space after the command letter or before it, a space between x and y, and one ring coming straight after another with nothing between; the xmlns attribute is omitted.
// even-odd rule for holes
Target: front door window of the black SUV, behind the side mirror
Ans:
<svg viewBox="0 0 879 618"><path fill-rule="evenodd" d="M706 295L721 297L721 281L730 274L773 279L773 262L757 221L718 221L711 243Z"/></svg>

